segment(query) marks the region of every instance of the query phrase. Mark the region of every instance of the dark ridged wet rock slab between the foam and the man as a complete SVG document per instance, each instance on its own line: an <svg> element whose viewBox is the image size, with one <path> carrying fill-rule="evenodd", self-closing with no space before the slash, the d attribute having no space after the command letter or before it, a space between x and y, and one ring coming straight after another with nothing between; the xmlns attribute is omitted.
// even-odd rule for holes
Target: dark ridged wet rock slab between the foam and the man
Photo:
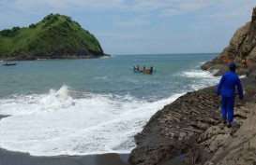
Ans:
<svg viewBox="0 0 256 165"><path fill-rule="evenodd" d="M135 136L131 164L156 164L176 157L197 142L210 126L219 123L219 97L215 88L190 92L166 105Z"/></svg>

